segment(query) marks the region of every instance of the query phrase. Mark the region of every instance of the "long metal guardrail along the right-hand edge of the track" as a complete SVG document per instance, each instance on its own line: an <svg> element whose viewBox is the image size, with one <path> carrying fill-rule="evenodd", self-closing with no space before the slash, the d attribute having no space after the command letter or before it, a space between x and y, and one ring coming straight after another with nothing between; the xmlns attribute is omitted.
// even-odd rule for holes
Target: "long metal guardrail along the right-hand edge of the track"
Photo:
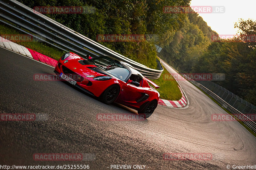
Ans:
<svg viewBox="0 0 256 170"><path fill-rule="evenodd" d="M214 100L216 100L222 107L226 108L230 113L232 113L233 115L239 117L239 116L243 116L243 117L247 117L246 115L244 115L243 113L239 112L238 110L236 110L234 107L232 107L230 104L228 104L225 100L221 99L218 95L216 95L215 93L213 93L212 91L210 91L209 89L207 89L206 87L204 87L203 85L201 85L200 83L197 83L196 81L192 80L191 78L184 76L184 78L186 78L189 82L191 82L193 85L196 85L197 87L199 87L202 91L204 91L206 94L208 94L209 96L211 96ZM248 117L247 117L248 118ZM247 119L247 121L243 121L244 124L250 128L252 131L254 131L256 133L256 122L253 122L250 118Z"/></svg>

